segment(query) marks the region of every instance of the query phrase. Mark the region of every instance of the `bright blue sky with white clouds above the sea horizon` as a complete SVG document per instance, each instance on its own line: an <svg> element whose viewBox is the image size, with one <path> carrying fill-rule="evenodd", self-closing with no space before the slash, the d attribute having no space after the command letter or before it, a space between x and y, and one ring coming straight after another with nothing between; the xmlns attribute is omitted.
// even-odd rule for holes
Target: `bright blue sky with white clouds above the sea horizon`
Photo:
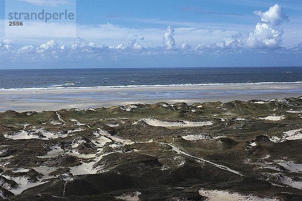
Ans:
<svg viewBox="0 0 302 201"><path fill-rule="evenodd" d="M74 13L72 20L10 12ZM0 0L0 69L302 66L302 2Z"/></svg>

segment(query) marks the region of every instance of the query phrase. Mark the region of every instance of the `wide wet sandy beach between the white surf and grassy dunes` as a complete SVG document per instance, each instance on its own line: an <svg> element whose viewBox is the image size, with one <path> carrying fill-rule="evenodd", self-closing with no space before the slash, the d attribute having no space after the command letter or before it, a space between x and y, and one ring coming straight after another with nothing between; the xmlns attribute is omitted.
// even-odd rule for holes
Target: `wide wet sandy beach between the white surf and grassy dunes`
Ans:
<svg viewBox="0 0 302 201"><path fill-rule="evenodd" d="M298 97L300 82L0 89L0 112L101 108L128 104L187 104Z"/></svg>

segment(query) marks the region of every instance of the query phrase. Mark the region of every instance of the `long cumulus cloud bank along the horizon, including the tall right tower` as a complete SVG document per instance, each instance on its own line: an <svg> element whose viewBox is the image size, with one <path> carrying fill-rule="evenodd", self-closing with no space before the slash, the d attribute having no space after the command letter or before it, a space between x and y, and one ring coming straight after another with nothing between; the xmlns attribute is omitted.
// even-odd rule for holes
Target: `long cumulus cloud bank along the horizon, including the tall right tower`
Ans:
<svg viewBox="0 0 302 201"><path fill-rule="evenodd" d="M50 1L47 0L21 1L32 4L50 4ZM64 4L65 1L62 0L61 3ZM289 21L289 17L284 13L282 7L275 4L267 11L255 11L253 14L259 16L261 22L256 24L254 30L247 37L238 32L232 35L231 38L210 45L203 43L196 45L190 44L188 41L179 41L180 45L177 46L177 31L172 26L167 26L167 30L162 33L162 45L156 47L143 46L142 43L145 43L146 39L143 35L138 36L139 33L137 33L127 44L109 45L97 45L93 41L79 38L72 44L59 44L51 39L39 46L24 45L15 48L11 40L5 39L0 40L0 54L4 60L3 63L11 63L13 66L16 66L18 61L29 66L43 64L46 67L49 67L47 64L65 65L66 63L75 67L83 67L81 64L100 67L113 67L110 65L155 67L167 66L169 62L174 66L184 63L192 65L194 62L195 66L219 66L219 62L228 57L232 57L233 60L229 59L226 64L242 65L242 62L248 61L253 55L264 57L267 61L272 61L272 65L278 65L280 60L277 57L281 55L280 58L288 59L288 54L293 58L293 61L295 59L297 61L292 65L301 65L297 58L302 55L302 43L297 43L291 48L282 46L282 36L284 34L282 24ZM238 62L237 58L242 58L242 62ZM191 59L192 62L185 62L187 59ZM211 65L209 59L216 59L216 62L212 62ZM136 63L131 64L130 60L132 62L135 60ZM153 62L153 64L150 64L150 62ZM284 62L281 62L281 65L284 65ZM288 65L290 64L288 63ZM253 65L253 63L247 65ZM257 65L257 63L254 65Z"/></svg>

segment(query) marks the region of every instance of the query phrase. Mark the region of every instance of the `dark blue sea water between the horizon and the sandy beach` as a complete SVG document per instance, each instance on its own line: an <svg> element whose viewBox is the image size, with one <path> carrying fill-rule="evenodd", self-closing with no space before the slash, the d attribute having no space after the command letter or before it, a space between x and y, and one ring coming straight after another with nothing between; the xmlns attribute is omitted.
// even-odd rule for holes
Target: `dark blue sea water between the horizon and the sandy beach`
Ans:
<svg viewBox="0 0 302 201"><path fill-rule="evenodd" d="M302 67L0 70L0 88L299 82Z"/></svg>

